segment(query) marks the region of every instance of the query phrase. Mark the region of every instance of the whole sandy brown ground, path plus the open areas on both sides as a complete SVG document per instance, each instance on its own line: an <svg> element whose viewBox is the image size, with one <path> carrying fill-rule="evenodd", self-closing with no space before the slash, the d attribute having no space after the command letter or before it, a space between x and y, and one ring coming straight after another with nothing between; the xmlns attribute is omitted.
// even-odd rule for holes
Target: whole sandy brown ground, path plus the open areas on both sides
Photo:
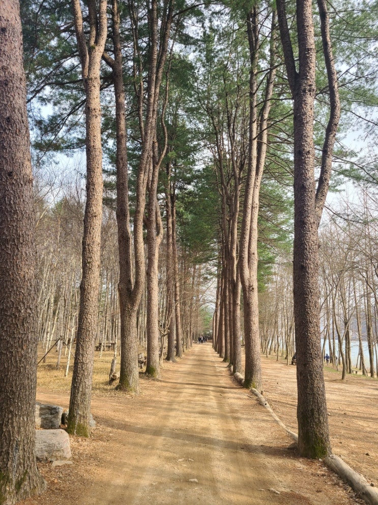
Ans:
<svg viewBox="0 0 378 505"><path fill-rule="evenodd" d="M39 464L48 489L24 505L363 503L321 461L288 449L293 440L236 384L211 343L164 363L161 380L141 375L139 396L107 385L111 353L104 355L101 379L95 366L92 437L71 437L72 465ZM264 394L297 431L295 366L262 359ZM40 368L37 400L66 408L69 377L58 380L50 368L49 381ZM332 369L325 376L333 451L378 485L378 381L341 382Z"/></svg>

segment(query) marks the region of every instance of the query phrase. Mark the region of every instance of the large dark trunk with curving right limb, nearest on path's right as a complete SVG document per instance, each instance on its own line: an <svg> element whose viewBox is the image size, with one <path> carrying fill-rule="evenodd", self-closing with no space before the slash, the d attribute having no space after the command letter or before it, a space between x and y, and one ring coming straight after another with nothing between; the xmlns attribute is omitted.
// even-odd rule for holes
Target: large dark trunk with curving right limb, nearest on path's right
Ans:
<svg viewBox="0 0 378 505"><path fill-rule="evenodd" d="M294 315L297 348L298 450L302 456L309 458L323 458L331 452L321 354L317 229L328 191L333 145L340 117L328 13L323 0L318 0L317 4L330 93L330 118L315 193L313 116L316 52L312 4L311 0L297 2L299 48L297 71L285 2L277 0L285 65L294 99Z"/></svg>

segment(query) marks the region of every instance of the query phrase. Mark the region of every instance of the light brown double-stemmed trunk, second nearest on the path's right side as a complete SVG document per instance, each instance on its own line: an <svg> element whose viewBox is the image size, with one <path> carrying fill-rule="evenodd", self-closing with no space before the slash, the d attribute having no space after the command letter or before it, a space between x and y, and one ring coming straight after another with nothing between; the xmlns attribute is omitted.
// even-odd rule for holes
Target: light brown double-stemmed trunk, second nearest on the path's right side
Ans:
<svg viewBox="0 0 378 505"><path fill-rule="evenodd" d="M272 15L270 70L267 76L264 102L257 115L257 59L259 54L259 24L257 6L247 16L247 31L250 51L249 79L249 152L247 182L244 196L243 220L240 235L239 268L244 300L245 334L245 388L260 390L261 359L258 330L257 291L257 238L258 210L261 179L263 177L267 138L268 118L275 78L274 44L275 13Z"/></svg>

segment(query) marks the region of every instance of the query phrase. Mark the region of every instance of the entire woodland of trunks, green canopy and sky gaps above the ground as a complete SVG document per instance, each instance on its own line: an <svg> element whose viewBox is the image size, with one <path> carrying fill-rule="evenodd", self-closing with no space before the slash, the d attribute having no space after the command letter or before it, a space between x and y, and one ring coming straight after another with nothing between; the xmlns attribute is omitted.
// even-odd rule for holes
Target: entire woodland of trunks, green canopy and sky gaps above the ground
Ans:
<svg viewBox="0 0 378 505"><path fill-rule="evenodd" d="M325 346L378 370L377 36L373 1L0 4L0 505L44 486L37 345L83 436L95 349L133 394L206 332L246 388L296 351L299 453L331 453Z"/></svg>

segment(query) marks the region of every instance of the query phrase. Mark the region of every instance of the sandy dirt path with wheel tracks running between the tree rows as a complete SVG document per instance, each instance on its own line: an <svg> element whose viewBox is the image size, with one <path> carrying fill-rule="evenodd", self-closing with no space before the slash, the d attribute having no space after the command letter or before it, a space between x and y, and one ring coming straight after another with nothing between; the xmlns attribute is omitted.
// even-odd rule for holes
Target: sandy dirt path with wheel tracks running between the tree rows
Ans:
<svg viewBox="0 0 378 505"><path fill-rule="evenodd" d="M254 505L359 503L292 440L211 348L197 344L143 393L93 398L90 440L72 438L73 465L42 465L49 490L24 503ZM68 396L40 393L63 406Z"/></svg>

